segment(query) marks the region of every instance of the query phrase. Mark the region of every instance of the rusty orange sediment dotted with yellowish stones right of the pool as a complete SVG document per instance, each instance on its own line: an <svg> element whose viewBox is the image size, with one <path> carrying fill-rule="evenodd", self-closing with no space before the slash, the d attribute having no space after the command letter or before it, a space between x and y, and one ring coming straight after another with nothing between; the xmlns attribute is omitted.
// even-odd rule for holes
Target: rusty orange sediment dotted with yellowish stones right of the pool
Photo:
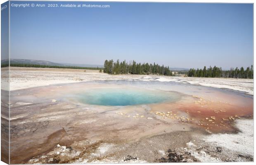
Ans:
<svg viewBox="0 0 256 165"><path fill-rule="evenodd" d="M193 127L201 127L213 133L237 132L237 128L233 127L234 121L239 118L252 118L253 116L252 101L239 105L204 100L202 97L197 99L200 104L197 104L198 101L193 101L194 99L187 97L185 101L153 105L152 111L155 113L161 109L160 113L164 112L163 116L165 117L168 114L168 118L171 117L171 119L189 123ZM180 115L180 112L183 112L183 115ZM187 116L184 117L184 114Z"/></svg>

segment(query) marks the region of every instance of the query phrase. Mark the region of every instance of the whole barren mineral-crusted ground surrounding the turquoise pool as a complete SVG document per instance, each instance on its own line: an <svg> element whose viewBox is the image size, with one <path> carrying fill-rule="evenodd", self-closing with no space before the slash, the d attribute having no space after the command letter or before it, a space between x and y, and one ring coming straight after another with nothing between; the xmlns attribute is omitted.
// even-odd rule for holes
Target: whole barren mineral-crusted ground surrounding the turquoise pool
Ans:
<svg viewBox="0 0 256 165"><path fill-rule="evenodd" d="M12 164L253 161L253 80L11 68L10 90ZM166 100L83 95L115 90Z"/></svg>

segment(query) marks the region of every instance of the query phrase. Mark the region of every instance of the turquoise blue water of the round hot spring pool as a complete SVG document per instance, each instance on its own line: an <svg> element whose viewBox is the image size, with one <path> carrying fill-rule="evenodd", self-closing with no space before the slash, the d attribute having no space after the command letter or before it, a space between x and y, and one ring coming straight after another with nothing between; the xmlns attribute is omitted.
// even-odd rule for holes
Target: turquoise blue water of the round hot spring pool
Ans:
<svg viewBox="0 0 256 165"><path fill-rule="evenodd" d="M85 104L103 106L128 106L176 101L176 92L161 92L135 89L95 89L80 94L79 100Z"/></svg>

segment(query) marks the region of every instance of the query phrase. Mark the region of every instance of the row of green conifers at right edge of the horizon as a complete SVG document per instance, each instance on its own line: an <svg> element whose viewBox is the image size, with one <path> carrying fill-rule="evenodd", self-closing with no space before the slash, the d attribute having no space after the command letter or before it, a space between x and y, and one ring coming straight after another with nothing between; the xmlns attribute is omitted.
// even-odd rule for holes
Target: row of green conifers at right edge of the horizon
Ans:
<svg viewBox="0 0 256 165"><path fill-rule="evenodd" d="M206 69L206 66L204 66L204 69L194 69L190 68L190 70L187 73L188 77L209 77L209 78L254 78L254 70L253 66L247 67L244 69L244 67L239 68L231 68L228 71L223 71L221 67L209 67Z"/></svg>

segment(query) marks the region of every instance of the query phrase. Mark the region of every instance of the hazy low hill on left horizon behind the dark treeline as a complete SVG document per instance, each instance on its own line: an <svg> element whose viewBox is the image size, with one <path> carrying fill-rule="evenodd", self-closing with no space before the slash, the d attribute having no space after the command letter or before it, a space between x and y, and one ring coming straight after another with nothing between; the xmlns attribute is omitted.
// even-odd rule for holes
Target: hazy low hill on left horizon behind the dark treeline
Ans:
<svg viewBox="0 0 256 165"><path fill-rule="evenodd" d="M11 64L47 65L47 66L77 66L77 67L90 67L90 68L103 67L103 65L55 63L50 61L32 60L32 59L10 59L10 63ZM8 64L8 59L1 60L1 64Z"/></svg>

